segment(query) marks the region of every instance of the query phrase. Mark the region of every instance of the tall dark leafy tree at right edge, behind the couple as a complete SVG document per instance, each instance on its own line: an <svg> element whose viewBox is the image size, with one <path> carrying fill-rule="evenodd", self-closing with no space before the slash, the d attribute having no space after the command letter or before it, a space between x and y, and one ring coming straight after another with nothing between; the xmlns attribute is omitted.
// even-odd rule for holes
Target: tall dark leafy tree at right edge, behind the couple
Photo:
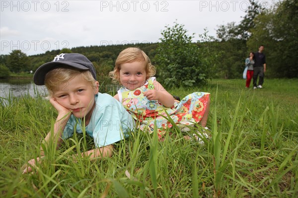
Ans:
<svg viewBox="0 0 298 198"><path fill-rule="evenodd" d="M256 17L247 44L265 46L267 71L272 77L298 77L298 1L284 0Z"/></svg>

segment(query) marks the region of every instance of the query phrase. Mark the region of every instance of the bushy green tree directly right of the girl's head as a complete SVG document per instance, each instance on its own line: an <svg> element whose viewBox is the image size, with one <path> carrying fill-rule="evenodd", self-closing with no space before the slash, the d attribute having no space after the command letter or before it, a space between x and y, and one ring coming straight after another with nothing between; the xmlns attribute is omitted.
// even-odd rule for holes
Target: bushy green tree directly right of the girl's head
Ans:
<svg viewBox="0 0 298 198"><path fill-rule="evenodd" d="M206 70L199 58L199 48L192 42L194 36L188 36L184 25L177 22L173 27L165 28L153 60L159 81L166 87L189 87L203 83Z"/></svg>

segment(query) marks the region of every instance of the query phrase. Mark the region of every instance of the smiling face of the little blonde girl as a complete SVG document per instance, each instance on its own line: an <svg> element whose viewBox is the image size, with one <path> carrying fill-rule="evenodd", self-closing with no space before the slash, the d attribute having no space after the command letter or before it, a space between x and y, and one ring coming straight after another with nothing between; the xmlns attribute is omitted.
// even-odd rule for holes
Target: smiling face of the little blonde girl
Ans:
<svg viewBox="0 0 298 198"><path fill-rule="evenodd" d="M145 84L146 70L144 62L121 64L119 71L120 83L130 90L135 90Z"/></svg>

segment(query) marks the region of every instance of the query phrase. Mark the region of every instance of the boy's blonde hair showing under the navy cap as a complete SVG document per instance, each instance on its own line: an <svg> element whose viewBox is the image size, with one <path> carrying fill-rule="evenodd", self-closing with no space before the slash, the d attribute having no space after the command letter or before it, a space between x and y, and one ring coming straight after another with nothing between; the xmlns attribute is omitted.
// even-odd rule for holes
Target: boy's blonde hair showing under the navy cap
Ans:
<svg viewBox="0 0 298 198"><path fill-rule="evenodd" d="M66 87L68 85L67 82L77 75L81 75L90 83L92 88L96 88L96 80L89 70L78 70L73 67L59 67L50 70L45 76L45 85L48 89L49 96L53 97L54 91L59 90L59 87Z"/></svg>

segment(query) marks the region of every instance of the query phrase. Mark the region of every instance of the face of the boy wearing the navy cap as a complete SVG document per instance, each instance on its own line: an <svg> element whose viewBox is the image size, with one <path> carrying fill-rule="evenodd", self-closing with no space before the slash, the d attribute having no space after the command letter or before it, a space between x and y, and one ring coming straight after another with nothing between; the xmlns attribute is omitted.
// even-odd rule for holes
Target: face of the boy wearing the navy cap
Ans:
<svg viewBox="0 0 298 198"><path fill-rule="evenodd" d="M56 101L72 111L76 118L85 116L85 122L89 123L95 108L94 95L98 93L98 81L96 88L93 88L81 75L76 75L73 79L58 85L57 90L53 90Z"/></svg>

